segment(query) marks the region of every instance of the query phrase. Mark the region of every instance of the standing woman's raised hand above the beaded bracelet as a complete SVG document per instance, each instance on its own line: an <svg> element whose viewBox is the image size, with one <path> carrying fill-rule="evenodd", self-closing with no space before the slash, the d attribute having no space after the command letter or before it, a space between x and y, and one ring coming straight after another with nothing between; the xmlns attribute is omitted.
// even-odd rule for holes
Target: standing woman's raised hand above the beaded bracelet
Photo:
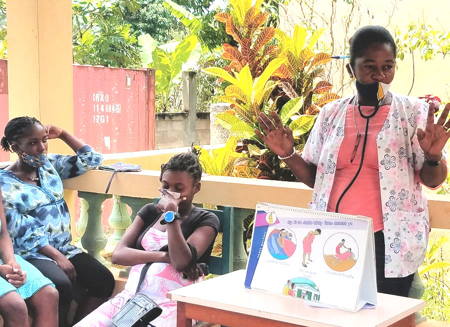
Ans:
<svg viewBox="0 0 450 327"><path fill-rule="evenodd" d="M261 112L256 119L264 134L257 129L255 129L254 132L261 141L267 144L274 154L280 157L287 157L292 154L293 151L292 131L288 126L285 128L283 127L281 119L279 119L276 112L270 112L270 116L273 122L266 114Z"/></svg>

